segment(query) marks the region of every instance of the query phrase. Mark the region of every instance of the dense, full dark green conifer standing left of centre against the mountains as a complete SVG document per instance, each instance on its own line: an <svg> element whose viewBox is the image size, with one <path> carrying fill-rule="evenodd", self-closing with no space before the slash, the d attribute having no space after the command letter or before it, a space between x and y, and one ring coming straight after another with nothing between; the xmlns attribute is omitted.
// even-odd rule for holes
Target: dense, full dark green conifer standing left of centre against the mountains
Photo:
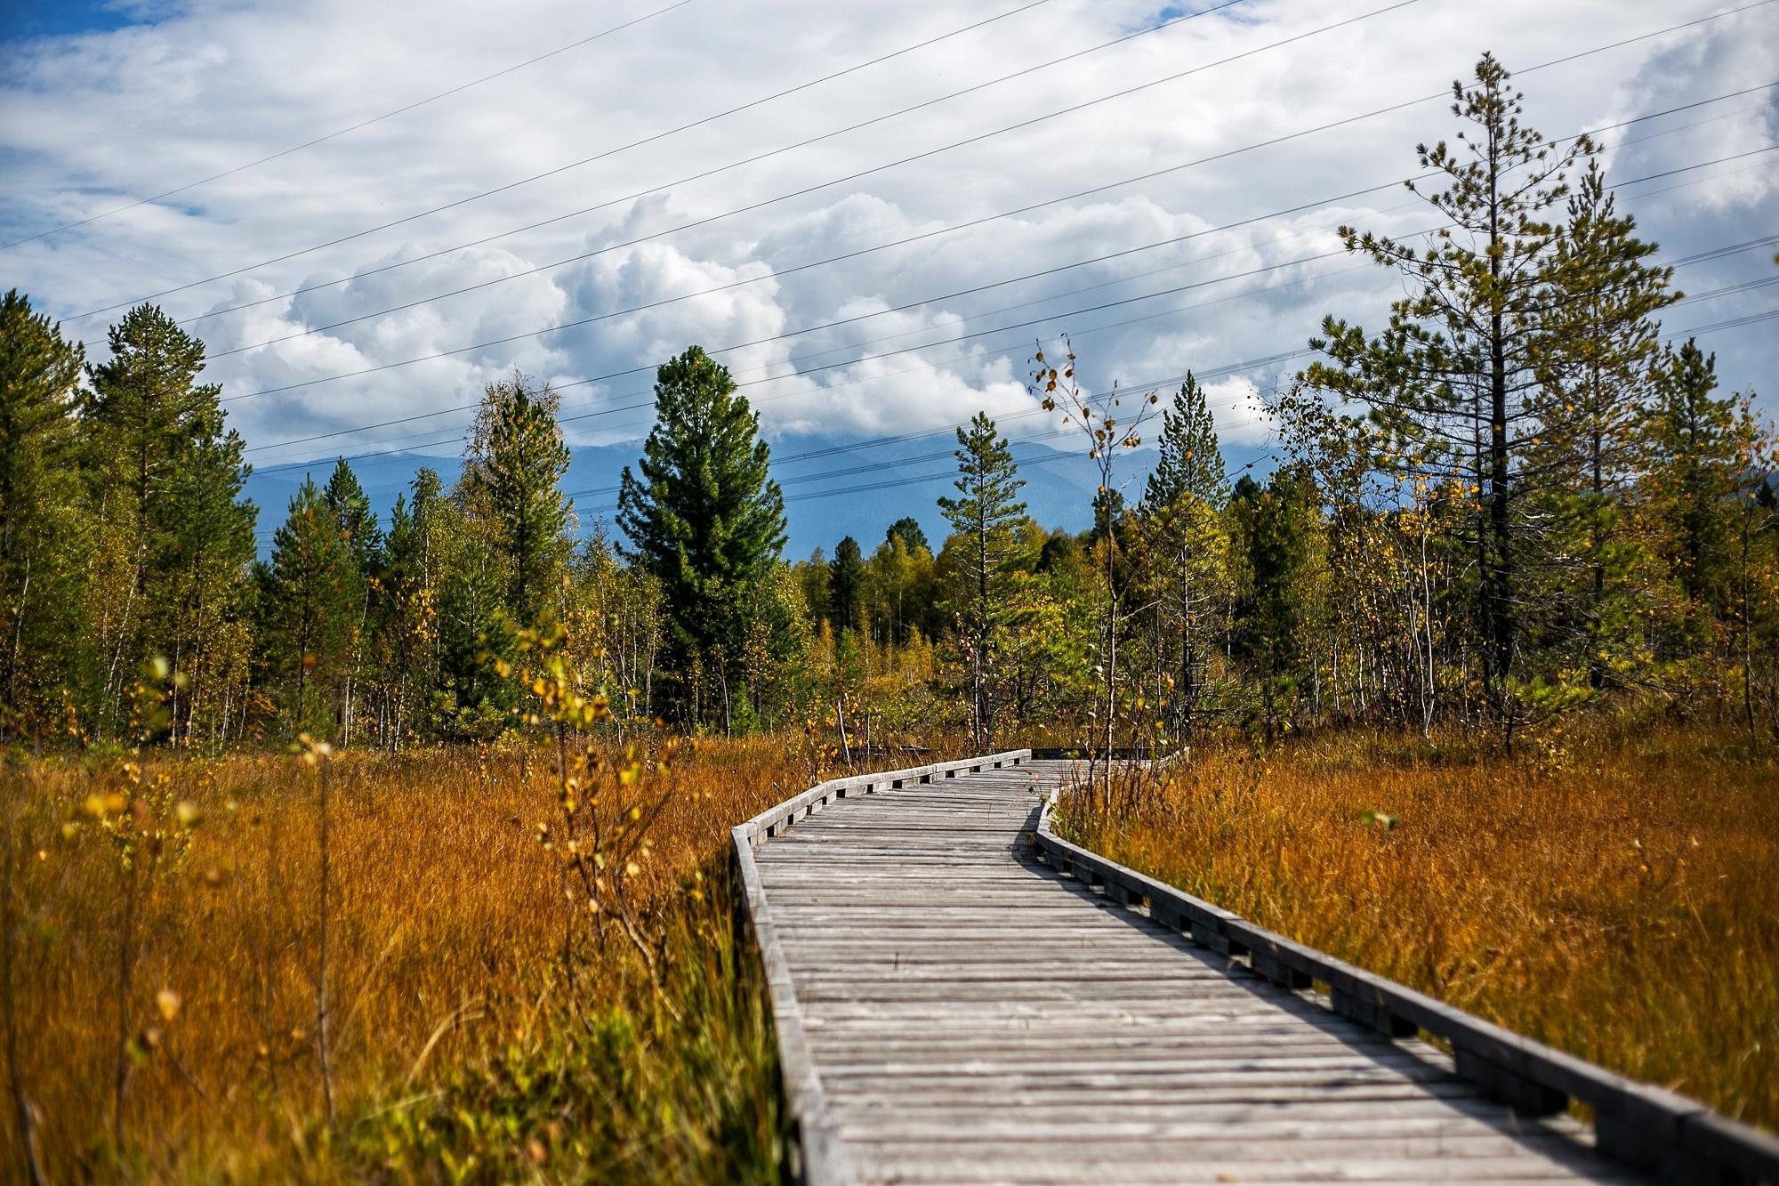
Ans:
<svg viewBox="0 0 1779 1186"><path fill-rule="evenodd" d="M767 474L760 415L703 349L660 367L655 417L640 477L624 467L617 524L630 538L626 556L662 582L687 711L729 725L731 686L745 682L753 586L785 550L785 497ZM701 687L706 671L717 684L713 703Z"/></svg>

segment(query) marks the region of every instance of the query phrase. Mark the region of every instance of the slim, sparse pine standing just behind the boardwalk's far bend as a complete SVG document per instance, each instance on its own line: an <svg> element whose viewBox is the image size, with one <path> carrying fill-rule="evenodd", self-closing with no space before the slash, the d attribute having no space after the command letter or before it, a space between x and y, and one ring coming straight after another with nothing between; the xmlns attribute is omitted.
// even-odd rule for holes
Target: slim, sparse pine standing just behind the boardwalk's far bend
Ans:
<svg viewBox="0 0 1779 1186"><path fill-rule="evenodd" d="M1012 447L994 429L994 420L978 411L970 431L957 429L955 499L941 497L939 511L959 536L962 570L952 589L957 634L970 662L970 730L978 748L994 737L993 684L1002 645L998 627L1007 607L1000 591L1014 559L1014 527L1025 515L1016 502L1025 481L1012 461Z"/></svg>

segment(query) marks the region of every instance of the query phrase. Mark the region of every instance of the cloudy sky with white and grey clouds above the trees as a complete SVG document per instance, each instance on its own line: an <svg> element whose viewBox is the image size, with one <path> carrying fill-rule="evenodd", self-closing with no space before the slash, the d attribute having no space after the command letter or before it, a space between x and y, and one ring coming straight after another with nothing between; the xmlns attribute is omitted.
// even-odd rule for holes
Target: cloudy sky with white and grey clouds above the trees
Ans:
<svg viewBox="0 0 1779 1186"><path fill-rule="evenodd" d="M1482 50L1546 135L1612 128L1603 164L1663 258L1779 233L1770 0L23 0L0 20L4 283L94 356L132 303L187 321L260 468L455 456L464 406L514 367L562 388L575 442L633 440L649 367L690 342L781 452L1009 417L1032 408L1034 338L1062 331L1091 385L1211 374L1226 440L1258 445L1249 394L1304 363L1284 356L1325 312L1375 324L1400 292L1334 226L1436 223L1400 182L1457 130L1432 96ZM1704 299L1665 324L1779 308L1745 287L1779 276L1774 249L1681 267ZM1726 386L1774 386L1779 321L1704 342Z"/></svg>

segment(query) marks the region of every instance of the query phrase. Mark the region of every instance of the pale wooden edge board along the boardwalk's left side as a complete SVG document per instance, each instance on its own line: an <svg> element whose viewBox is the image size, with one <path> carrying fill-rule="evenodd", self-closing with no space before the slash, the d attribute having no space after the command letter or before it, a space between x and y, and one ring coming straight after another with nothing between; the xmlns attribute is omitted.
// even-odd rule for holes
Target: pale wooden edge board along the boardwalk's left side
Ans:
<svg viewBox="0 0 1779 1186"><path fill-rule="evenodd" d="M815 1063L809 1058L809 1044L802 1028L802 1006L797 1003L790 963L785 960L777 931L772 926L772 914L767 908L765 890L760 885L760 867L754 864L754 849L772 837L785 835L799 819L815 816L836 800L955 778L957 775L973 775L984 769L1019 766L1030 759L1030 750L1007 750L1003 753L955 762L932 762L929 766L913 766L875 775L831 778L776 807L769 807L747 823L729 830L735 864L742 881L742 908L754 937L761 971L765 972L767 1003L772 1010L772 1035L777 1040L779 1097L788 1120L786 1127L790 1129L786 1134L785 1165L788 1179L818 1186L852 1186L857 1181L857 1170L847 1156L845 1145L840 1141L834 1122L827 1115L827 1095L822 1092L822 1081L815 1074Z"/></svg>

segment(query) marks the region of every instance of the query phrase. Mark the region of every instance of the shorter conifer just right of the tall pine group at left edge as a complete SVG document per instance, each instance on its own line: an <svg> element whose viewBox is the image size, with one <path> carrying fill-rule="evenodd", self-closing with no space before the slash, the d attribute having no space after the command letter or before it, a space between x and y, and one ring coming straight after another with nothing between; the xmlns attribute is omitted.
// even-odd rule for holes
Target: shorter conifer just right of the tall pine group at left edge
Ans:
<svg viewBox="0 0 1779 1186"><path fill-rule="evenodd" d="M313 479L290 499L260 565L262 680L283 703L288 734L327 735L338 719L333 687L350 645L354 561L340 524Z"/></svg>

